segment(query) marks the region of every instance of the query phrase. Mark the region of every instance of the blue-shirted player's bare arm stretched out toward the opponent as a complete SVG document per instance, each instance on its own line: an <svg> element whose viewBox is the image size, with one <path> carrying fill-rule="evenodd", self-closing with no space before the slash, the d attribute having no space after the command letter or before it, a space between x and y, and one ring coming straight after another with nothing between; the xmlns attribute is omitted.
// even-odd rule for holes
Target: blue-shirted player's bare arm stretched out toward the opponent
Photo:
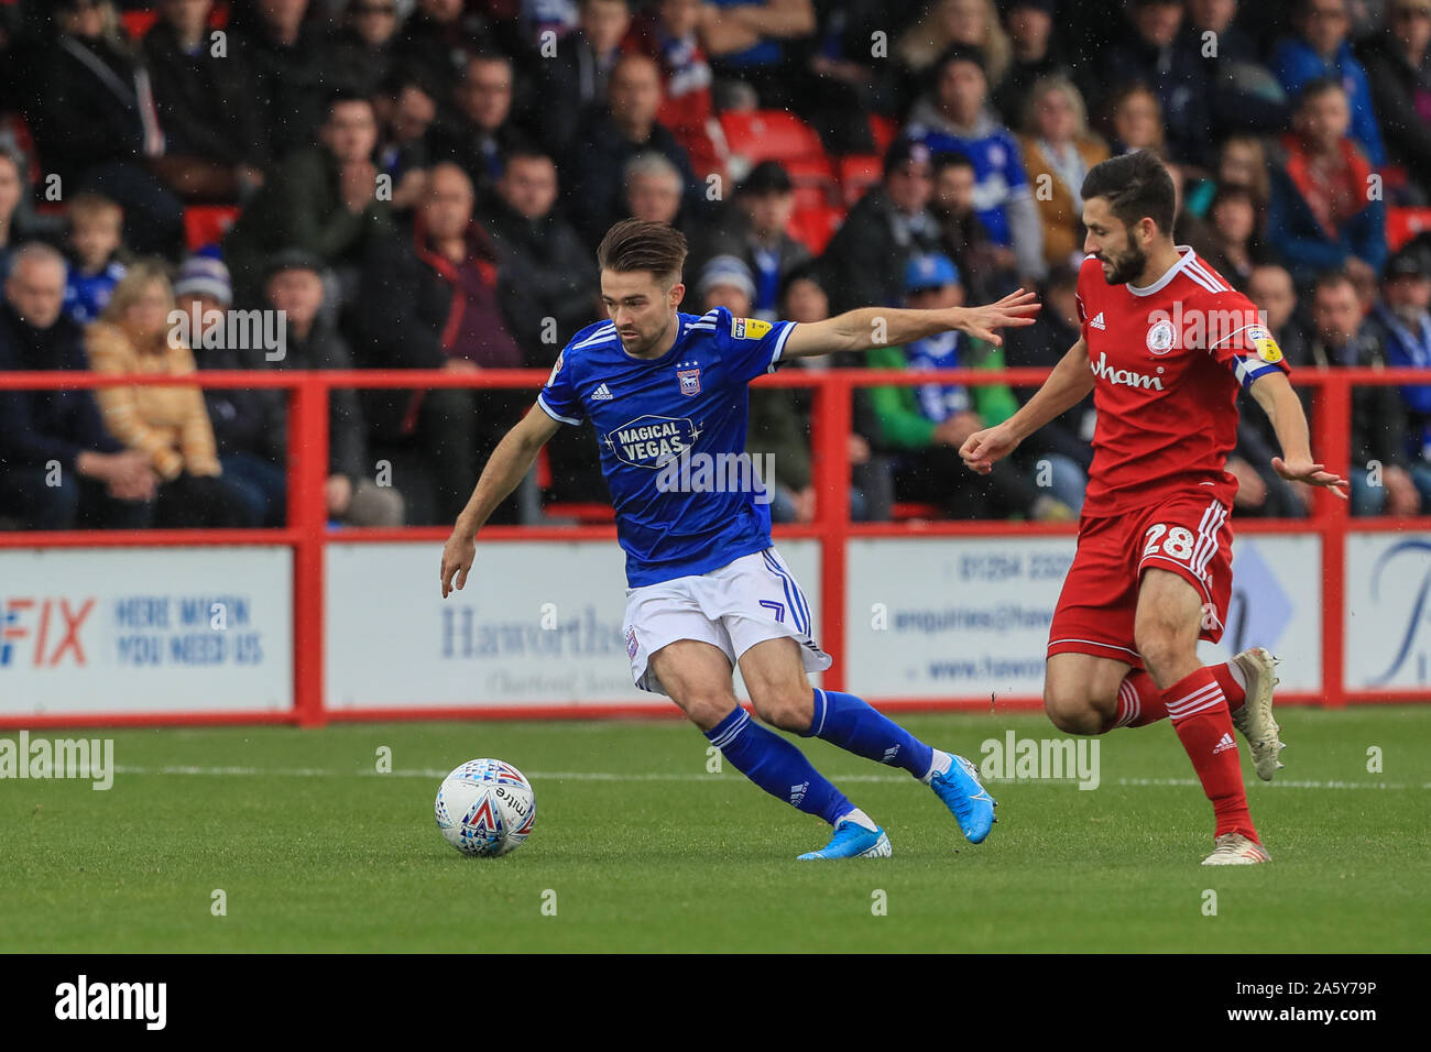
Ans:
<svg viewBox="0 0 1431 1052"><path fill-rule="evenodd" d="M959 329L999 346L999 329L1033 325L1037 296L1019 289L997 303L914 311L896 306L864 306L823 322L803 322L790 332L783 358L810 358L836 351L869 351L874 346L912 344L937 332Z"/></svg>

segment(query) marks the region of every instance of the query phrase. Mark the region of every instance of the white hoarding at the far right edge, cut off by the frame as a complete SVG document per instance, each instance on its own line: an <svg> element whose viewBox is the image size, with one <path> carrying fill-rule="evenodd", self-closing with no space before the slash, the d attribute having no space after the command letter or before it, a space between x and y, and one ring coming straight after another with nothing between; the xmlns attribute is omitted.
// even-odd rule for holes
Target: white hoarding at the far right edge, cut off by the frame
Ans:
<svg viewBox="0 0 1431 1052"><path fill-rule="evenodd" d="M1348 690L1431 687L1431 534L1347 535Z"/></svg>

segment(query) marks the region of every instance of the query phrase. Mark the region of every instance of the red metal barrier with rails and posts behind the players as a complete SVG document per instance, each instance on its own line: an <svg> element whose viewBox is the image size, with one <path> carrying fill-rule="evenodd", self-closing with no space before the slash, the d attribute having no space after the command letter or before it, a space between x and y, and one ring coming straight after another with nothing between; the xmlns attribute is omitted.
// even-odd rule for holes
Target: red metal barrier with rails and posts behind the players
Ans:
<svg viewBox="0 0 1431 1052"><path fill-rule="evenodd" d="M846 561L850 538L866 537L989 537L989 535L1072 535L1068 524L1040 522L880 522L851 524L849 520L849 447L851 428L851 394L857 386L959 382L966 385L1007 384L1036 386L1047 371L1007 369L992 372L940 371L909 372L880 369L787 369L757 381L763 386L811 388L811 451L813 474L820 494L816 521L804 527L778 527L778 538L809 538L821 542L821 624L826 638L833 640L834 664L824 683L840 688L844 670L844 603ZM0 727L83 726L83 724L163 724L163 723L223 723L223 721L289 721L298 726L318 726L332 719L422 719L477 716L620 716L630 714L631 706L587 706L571 710L560 704L545 708L429 708L335 713L323 704L323 551L328 544L362 541L431 541L441 544L448 530L416 527L398 530L328 528L325 478L328 471L328 392L332 388L529 388L535 391L547 379L544 369L488 369L478 374L445 371L212 371L186 376L114 376L73 372L13 372L0 374L0 391L99 388L127 384L197 385L207 388L285 388L289 389L289 524L282 530L152 530L139 532L76 531L23 532L0 531L3 548L56 547L165 547L216 544L273 544L293 548L293 710L289 714L258 713L242 717L223 714L145 714L122 717L0 717ZM1425 384L1427 374L1418 369L1338 369L1331 372L1304 371L1295 378L1299 386L1318 389L1312 419L1312 451L1329 471L1345 475L1349 469L1351 391L1358 385ZM1339 437L1335 438L1334 437ZM1342 605L1345 597L1345 540L1349 527L1347 501L1328 492L1318 495L1314 514L1305 520L1238 520L1236 528L1248 534L1317 534L1322 548L1322 693L1278 694L1278 701L1344 706L1351 703L1427 701L1431 693L1404 690L1344 690L1345 625ZM1358 531L1431 531L1431 515L1418 518L1357 520ZM484 540L612 540L614 527L489 527ZM434 560L436 552L434 552ZM877 700L877 698L871 698ZM890 708L949 710L987 707L985 698L900 698ZM1037 698L1012 698L1002 707L1037 707Z"/></svg>

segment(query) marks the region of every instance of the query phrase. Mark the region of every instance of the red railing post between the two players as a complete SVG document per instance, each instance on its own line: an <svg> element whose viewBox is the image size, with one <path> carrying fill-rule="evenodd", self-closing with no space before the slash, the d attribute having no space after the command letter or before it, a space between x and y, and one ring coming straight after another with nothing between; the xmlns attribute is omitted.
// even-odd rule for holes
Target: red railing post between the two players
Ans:
<svg viewBox="0 0 1431 1052"><path fill-rule="evenodd" d="M831 664L829 690L844 690L846 544L850 535L850 399L853 385L839 369L813 388L810 444L814 447L816 524L820 527L820 631Z"/></svg>

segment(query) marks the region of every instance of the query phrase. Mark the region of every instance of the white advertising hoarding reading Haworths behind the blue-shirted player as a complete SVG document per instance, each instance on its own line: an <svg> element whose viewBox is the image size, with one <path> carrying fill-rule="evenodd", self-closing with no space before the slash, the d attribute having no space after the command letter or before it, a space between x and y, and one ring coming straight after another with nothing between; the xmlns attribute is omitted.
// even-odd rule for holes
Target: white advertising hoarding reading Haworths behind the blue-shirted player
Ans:
<svg viewBox="0 0 1431 1052"><path fill-rule="evenodd" d="M819 610L819 547L777 547ZM631 683L615 541L479 542L446 600L441 555L438 542L328 547L329 707L671 704Z"/></svg>

